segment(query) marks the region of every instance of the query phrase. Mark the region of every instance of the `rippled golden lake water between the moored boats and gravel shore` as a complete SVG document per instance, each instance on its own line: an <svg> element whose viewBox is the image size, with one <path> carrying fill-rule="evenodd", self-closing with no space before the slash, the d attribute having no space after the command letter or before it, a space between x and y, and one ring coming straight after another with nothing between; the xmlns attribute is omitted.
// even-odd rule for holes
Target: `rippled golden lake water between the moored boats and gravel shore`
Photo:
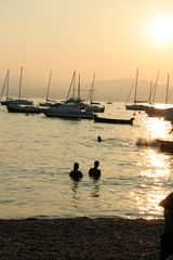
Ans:
<svg viewBox="0 0 173 260"><path fill-rule="evenodd" d="M122 103L103 104L101 116L133 116ZM145 113L125 126L11 114L0 106L0 218L162 218L158 204L173 190L173 156L135 143L171 138L170 129ZM96 159L102 178L93 181L88 171ZM83 172L79 183L69 178L75 161Z"/></svg>

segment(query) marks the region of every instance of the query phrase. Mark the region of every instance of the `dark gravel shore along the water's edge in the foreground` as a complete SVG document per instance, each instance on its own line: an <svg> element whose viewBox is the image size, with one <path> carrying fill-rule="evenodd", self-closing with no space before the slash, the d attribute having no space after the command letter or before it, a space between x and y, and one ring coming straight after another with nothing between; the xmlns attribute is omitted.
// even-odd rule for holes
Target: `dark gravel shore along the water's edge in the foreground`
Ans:
<svg viewBox="0 0 173 260"><path fill-rule="evenodd" d="M158 260L163 220L0 220L1 260Z"/></svg>

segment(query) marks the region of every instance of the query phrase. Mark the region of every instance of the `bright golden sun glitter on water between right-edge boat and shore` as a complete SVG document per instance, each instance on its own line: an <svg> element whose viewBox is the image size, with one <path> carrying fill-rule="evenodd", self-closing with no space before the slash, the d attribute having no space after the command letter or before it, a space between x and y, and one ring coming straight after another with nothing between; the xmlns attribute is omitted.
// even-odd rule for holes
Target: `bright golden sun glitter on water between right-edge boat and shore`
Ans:
<svg viewBox="0 0 173 260"><path fill-rule="evenodd" d="M143 156L144 167L139 173L143 178L143 184L141 185L142 190L138 191L139 194L135 196L135 200L141 216L147 216L147 219L150 219L149 212L150 216L158 218L163 211L159 203L167 195L164 185L171 178L171 160L165 154L151 148L146 150Z"/></svg>

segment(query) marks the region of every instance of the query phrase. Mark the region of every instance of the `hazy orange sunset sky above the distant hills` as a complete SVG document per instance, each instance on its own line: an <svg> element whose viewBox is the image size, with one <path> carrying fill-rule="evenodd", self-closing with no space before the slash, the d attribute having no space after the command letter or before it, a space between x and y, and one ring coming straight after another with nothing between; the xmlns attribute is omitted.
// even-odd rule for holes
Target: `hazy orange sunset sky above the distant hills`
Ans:
<svg viewBox="0 0 173 260"><path fill-rule="evenodd" d="M133 78L173 86L172 0L1 0L0 83L9 68L45 86L72 72L90 82ZM38 84L39 86L39 84ZM129 87L128 87L129 88Z"/></svg>

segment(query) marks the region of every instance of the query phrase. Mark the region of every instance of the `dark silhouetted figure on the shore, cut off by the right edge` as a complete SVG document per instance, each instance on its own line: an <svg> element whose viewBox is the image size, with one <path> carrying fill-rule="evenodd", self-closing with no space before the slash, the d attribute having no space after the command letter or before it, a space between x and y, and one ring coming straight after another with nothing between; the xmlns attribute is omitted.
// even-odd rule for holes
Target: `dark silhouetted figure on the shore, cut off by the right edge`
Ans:
<svg viewBox="0 0 173 260"><path fill-rule="evenodd" d="M173 193L159 204L164 208L164 230L160 239L160 260L173 255Z"/></svg>

